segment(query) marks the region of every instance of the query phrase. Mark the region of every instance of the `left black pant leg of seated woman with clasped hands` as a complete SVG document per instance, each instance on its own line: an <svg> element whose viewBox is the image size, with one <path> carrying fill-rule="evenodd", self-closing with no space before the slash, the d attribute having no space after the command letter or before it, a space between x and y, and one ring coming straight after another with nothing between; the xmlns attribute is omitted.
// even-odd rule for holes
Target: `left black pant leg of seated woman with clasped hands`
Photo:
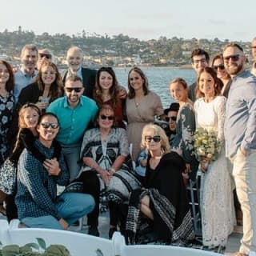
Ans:
<svg viewBox="0 0 256 256"><path fill-rule="evenodd" d="M96 172L90 170L84 171L74 182L82 182L82 193L93 196L95 207L94 210L87 215L87 225L98 226L100 184Z"/></svg>

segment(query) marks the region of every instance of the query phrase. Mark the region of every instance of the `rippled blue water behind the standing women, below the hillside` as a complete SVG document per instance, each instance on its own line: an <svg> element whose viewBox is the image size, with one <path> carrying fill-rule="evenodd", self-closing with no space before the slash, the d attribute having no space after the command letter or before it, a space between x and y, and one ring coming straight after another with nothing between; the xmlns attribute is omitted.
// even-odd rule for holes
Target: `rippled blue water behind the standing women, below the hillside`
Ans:
<svg viewBox="0 0 256 256"><path fill-rule="evenodd" d="M188 86L196 79L194 70L180 70L171 67L142 67L143 72L149 80L150 90L158 94L164 108L170 106L174 99L170 96L169 83L174 78L183 78ZM126 87L130 68L114 68L120 85Z"/></svg>

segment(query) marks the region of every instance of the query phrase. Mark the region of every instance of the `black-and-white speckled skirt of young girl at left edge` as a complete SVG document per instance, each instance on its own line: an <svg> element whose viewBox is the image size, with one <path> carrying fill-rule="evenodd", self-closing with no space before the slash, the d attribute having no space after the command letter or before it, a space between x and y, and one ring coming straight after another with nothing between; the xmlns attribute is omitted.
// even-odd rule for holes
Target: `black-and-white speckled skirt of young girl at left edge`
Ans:
<svg viewBox="0 0 256 256"><path fill-rule="evenodd" d="M16 186L17 166L7 158L0 168L0 190L13 194Z"/></svg>

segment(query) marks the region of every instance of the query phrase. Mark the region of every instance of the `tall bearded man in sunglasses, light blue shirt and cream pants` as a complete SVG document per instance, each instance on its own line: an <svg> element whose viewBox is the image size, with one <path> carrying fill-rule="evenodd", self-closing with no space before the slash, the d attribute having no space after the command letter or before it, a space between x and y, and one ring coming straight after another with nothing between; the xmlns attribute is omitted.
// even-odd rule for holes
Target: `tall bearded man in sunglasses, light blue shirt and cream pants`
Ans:
<svg viewBox="0 0 256 256"><path fill-rule="evenodd" d="M246 70L246 56L238 44L226 45L223 59L232 78L224 126L226 157L233 162L243 214L242 244L236 255L256 255L256 77Z"/></svg>

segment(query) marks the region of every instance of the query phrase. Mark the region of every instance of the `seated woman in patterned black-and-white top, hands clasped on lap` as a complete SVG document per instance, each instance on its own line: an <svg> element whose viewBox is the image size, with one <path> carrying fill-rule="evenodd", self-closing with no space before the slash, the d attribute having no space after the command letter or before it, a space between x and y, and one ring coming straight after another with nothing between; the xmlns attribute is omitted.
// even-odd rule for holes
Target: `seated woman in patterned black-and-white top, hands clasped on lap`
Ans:
<svg viewBox="0 0 256 256"><path fill-rule="evenodd" d="M110 198L112 198L109 205L109 234L111 237L118 224L118 209L114 206L115 202L128 199L130 190L133 187L138 188L140 186L137 179L130 174L130 167L126 165L126 158L129 155L126 130L114 128L114 121L113 108L110 105L103 104L98 112L97 122L99 127L87 130L84 135L81 149L83 166L80 176L75 180L83 183L83 193L94 196L96 206L94 211L88 214L87 220L89 225L88 234L95 236L99 236L98 214L101 190L107 187L110 190ZM126 179L129 186L120 186L120 180L116 176L122 176ZM118 191L115 191L115 188Z"/></svg>

